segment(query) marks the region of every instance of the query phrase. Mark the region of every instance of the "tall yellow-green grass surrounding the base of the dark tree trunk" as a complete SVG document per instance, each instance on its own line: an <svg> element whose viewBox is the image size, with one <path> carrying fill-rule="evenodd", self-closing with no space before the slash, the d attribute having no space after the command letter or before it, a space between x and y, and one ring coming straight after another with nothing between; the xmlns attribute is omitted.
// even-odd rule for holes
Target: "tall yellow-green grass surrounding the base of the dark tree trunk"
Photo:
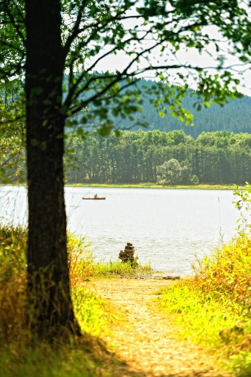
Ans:
<svg viewBox="0 0 251 377"><path fill-rule="evenodd" d="M84 240L68 236L72 299L84 335L67 344L30 343L25 326L26 246L25 229L0 226L0 376L110 376L102 367L107 351L99 336L109 334L116 318L110 304L83 284L95 271Z"/></svg>

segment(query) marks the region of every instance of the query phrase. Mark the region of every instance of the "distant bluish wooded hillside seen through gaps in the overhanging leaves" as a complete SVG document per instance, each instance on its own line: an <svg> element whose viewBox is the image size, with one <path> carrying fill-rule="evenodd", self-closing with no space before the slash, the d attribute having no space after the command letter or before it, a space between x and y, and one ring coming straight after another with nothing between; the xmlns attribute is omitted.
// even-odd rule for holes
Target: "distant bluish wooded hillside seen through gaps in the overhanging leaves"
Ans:
<svg viewBox="0 0 251 377"><path fill-rule="evenodd" d="M148 87L149 93L144 91L140 95L142 101L140 107L141 112L135 114L135 118L145 121L147 130L173 131L183 130L187 135L197 137L203 131L231 131L234 133L248 132L251 133L251 97L243 96L242 98L226 99L224 106L213 104L209 108L196 109L196 101L199 102L198 94L187 89L185 96L181 99L181 106L193 115L193 123L185 125L178 117L171 116L171 110L166 110L165 117L161 116L151 103L151 86L156 84L152 80L141 79L137 82L137 87ZM162 97L161 97L162 98ZM121 130L137 131L144 127L135 125L135 121L129 118L122 118L119 114L112 115L112 107L110 108L109 117L112 119L115 128ZM94 132L99 128L99 123L89 121L87 124L81 123L81 116L77 117L77 124L74 129L83 128L86 131ZM72 128L69 128L70 132Z"/></svg>

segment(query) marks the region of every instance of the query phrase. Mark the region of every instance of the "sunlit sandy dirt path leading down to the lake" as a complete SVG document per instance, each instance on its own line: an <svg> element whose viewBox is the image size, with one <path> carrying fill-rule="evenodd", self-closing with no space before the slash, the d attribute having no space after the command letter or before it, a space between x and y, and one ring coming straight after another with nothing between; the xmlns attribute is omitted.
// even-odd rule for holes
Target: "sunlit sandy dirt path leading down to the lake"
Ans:
<svg viewBox="0 0 251 377"><path fill-rule="evenodd" d="M156 292L172 282L155 279L102 279L94 283L97 293L112 301L117 313L126 313L113 326L113 345L119 365L114 377L225 377L213 357L189 342L179 342L165 313L155 310ZM175 340L176 338L176 340Z"/></svg>

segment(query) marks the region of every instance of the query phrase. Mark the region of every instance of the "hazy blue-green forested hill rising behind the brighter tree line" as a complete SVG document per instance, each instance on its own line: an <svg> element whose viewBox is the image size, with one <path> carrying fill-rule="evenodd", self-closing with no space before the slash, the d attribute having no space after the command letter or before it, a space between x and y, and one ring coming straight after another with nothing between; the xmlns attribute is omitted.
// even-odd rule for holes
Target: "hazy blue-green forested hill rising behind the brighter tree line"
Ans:
<svg viewBox="0 0 251 377"><path fill-rule="evenodd" d="M138 84L151 86L152 81L141 80ZM212 105L210 108L201 108L197 111L193 108L196 98L190 96L190 92L184 98L182 106L194 115L194 126L185 126L185 124L175 116L169 113L165 117L161 117L149 102L151 95L142 95L143 105L142 113L138 115L140 120L149 124L147 130L173 131L184 130L187 135L197 137L201 132L212 131L232 131L234 133L251 133L251 97L244 96L240 99L229 100L223 107L220 105ZM131 131L139 130L139 127L132 128L132 122L128 119L119 117L112 119L120 129L129 129Z"/></svg>

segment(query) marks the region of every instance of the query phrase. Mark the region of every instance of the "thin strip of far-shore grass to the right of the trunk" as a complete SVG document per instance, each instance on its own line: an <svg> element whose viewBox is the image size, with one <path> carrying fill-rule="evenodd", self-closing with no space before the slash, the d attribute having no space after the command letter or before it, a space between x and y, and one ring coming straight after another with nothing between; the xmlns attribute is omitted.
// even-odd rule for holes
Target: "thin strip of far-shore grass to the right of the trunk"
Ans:
<svg viewBox="0 0 251 377"><path fill-rule="evenodd" d="M67 183L65 186L74 187L111 187L111 188L193 188L193 189L229 189L236 188L235 184L221 185L221 184L200 184L200 185L157 185L155 183Z"/></svg>

